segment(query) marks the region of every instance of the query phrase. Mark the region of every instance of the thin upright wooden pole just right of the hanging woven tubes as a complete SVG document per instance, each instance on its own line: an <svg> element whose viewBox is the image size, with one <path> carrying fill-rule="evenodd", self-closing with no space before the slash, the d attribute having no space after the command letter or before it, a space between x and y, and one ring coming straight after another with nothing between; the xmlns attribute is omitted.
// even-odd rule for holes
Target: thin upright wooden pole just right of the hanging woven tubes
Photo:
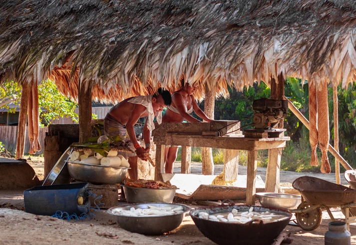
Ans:
<svg viewBox="0 0 356 245"><path fill-rule="evenodd" d="M338 86L334 85L334 148L339 153L339 103L338 103ZM340 162L335 158L335 179L336 184L340 185Z"/></svg>

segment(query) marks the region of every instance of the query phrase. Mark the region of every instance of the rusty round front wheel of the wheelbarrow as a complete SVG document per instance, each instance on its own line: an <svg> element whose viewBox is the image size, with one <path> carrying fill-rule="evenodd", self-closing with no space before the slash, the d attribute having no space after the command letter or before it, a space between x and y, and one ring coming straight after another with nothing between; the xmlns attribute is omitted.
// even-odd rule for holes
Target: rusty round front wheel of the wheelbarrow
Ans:
<svg viewBox="0 0 356 245"><path fill-rule="evenodd" d="M308 209L313 207L312 204L304 202L298 206L298 210ZM311 210L307 213L297 213L296 219L298 225L305 231L313 231L317 229L323 220L323 212L320 208Z"/></svg>

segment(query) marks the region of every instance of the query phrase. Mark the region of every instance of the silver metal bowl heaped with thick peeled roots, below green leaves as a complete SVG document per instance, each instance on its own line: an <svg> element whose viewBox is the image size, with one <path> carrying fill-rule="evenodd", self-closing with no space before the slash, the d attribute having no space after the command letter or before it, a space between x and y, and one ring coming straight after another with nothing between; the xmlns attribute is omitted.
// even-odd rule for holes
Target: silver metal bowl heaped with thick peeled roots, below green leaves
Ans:
<svg viewBox="0 0 356 245"><path fill-rule="evenodd" d="M70 177L75 180L97 184L119 184L130 168L105 167L82 163L67 162Z"/></svg>

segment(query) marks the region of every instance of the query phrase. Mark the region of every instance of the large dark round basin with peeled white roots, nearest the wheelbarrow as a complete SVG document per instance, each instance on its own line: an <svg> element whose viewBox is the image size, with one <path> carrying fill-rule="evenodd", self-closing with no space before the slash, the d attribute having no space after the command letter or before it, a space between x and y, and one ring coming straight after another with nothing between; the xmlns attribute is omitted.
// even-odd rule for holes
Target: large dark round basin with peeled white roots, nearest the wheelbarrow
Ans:
<svg viewBox="0 0 356 245"><path fill-rule="evenodd" d="M285 214L288 217L266 224L262 221L239 224L235 222L203 220L199 219L198 215L200 212L214 214L231 212L233 209L237 209L239 212L245 212L251 207L254 207L254 211L268 211ZM267 245L272 244L273 240L280 235L283 229L288 225L292 214L288 211L277 208L250 205L220 205L196 208L190 211L190 216L200 232L218 245Z"/></svg>

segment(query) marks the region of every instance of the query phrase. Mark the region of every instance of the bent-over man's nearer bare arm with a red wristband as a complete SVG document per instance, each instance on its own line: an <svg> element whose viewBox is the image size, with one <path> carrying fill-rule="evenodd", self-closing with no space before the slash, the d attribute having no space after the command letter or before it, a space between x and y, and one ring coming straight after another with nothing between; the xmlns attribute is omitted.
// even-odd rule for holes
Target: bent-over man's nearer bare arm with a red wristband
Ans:
<svg viewBox="0 0 356 245"><path fill-rule="evenodd" d="M140 119L141 115L144 114L145 111L146 111L146 107L144 107L143 105L134 104L131 111L131 115L126 123L126 131L133 145L138 144L133 126L137 123L138 119ZM144 156L144 152L145 152L145 148L143 147L139 147L136 149L137 156L143 160L146 159Z"/></svg>

